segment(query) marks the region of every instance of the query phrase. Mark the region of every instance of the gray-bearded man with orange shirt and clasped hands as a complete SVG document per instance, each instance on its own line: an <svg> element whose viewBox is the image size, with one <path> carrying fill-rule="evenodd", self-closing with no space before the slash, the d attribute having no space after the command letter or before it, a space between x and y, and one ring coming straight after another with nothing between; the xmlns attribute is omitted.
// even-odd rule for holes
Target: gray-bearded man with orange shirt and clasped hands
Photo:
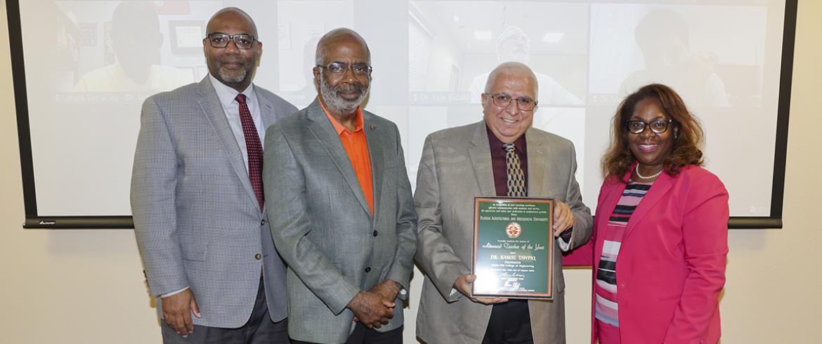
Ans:
<svg viewBox="0 0 822 344"><path fill-rule="evenodd" d="M371 72L365 40L330 31L316 48L317 99L266 133L293 342L402 342L417 217L397 126L360 108Z"/></svg>

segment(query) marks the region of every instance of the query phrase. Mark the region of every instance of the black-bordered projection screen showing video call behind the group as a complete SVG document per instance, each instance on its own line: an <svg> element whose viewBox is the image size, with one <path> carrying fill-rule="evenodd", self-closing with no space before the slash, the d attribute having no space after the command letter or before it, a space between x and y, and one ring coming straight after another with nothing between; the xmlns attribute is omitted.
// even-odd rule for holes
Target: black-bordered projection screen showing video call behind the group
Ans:
<svg viewBox="0 0 822 344"><path fill-rule="evenodd" d="M227 6L256 21L256 85L298 108L316 96L317 39L362 34L367 109L399 126L412 184L426 135L479 121L488 72L520 61L538 76L533 126L574 142L592 209L617 104L661 82L703 122L731 227L782 226L796 0L6 3L25 227L132 227L141 103L207 75L205 23Z"/></svg>

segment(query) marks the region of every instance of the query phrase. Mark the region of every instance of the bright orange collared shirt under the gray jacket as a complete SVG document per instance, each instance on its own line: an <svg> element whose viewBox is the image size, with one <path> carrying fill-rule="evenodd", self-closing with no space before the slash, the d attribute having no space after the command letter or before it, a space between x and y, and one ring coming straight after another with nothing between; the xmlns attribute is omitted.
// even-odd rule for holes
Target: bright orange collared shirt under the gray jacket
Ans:
<svg viewBox="0 0 822 344"><path fill-rule="evenodd" d="M368 141L365 139L365 131L363 130L363 110L357 107L354 131L349 131L348 128L337 122L337 119L328 113L322 102L320 102L320 106L322 111L326 112L326 116L328 116L335 131L337 131L345 153L349 155L351 166L354 168L354 173L357 174L360 187L363 189L363 194L365 194L365 200L368 202L368 207L371 208L373 214L374 187L372 186L371 154L368 154Z"/></svg>

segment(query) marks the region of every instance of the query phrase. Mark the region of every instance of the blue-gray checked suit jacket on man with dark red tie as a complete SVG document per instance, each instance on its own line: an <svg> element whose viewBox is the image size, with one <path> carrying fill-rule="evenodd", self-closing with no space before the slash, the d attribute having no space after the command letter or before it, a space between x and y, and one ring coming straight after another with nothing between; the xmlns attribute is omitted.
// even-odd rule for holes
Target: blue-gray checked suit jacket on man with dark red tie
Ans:
<svg viewBox="0 0 822 344"><path fill-rule="evenodd" d="M296 111L254 90L266 126ZM207 76L145 99L131 197L152 296L189 286L202 314L194 323L238 328L252 313L262 269L271 319L288 316L284 264Z"/></svg>

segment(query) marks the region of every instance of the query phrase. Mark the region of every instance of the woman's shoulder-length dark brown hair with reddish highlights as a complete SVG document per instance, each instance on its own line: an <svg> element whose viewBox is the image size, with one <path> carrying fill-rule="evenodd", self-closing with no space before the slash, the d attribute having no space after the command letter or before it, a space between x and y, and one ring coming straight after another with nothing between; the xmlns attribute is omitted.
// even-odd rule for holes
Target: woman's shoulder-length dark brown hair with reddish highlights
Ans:
<svg viewBox="0 0 822 344"><path fill-rule="evenodd" d="M603 157L602 168L603 177L617 177L623 182L627 182L622 177L633 166L636 158L630 152L628 146L628 128L626 123L633 116L636 104L644 99L656 99L659 106L663 108L665 116L673 120L672 128L677 130L674 135L673 151L665 158L663 166L665 172L671 176L676 176L682 167L687 165L702 166L702 145L704 134L700 120L688 111L685 102L679 94L666 85L651 84L645 85L620 103L617 112L614 113L611 124L611 144L608 146Z"/></svg>

